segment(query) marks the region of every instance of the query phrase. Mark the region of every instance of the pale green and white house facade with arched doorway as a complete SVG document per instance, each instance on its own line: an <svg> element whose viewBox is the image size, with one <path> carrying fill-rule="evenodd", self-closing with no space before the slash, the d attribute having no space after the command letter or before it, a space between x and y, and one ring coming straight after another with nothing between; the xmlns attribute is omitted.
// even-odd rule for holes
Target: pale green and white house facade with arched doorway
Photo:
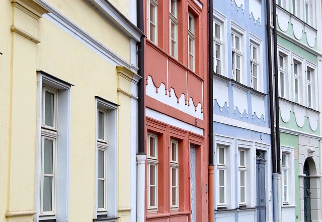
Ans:
<svg viewBox="0 0 322 222"><path fill-rule="evenodd" d="M282 221L321 221L321 3L276 3Z"/></svg>

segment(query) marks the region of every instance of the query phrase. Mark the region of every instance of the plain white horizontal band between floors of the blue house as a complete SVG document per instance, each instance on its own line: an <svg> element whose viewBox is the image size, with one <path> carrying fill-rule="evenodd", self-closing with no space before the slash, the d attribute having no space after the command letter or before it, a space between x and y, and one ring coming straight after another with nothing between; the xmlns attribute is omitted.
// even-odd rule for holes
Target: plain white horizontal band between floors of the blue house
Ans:
<svg viewBox="0 0 322 222"><path fill-rule="evenodd" d="M256 132L271 134L270 128L263 127L263 126L257 126L257 125L251 124L251 123L247 123L244 121L232 119L232 118L217 115L217 114L213 114L213 120L214 120L214 122L219 122L219 123L223 123L223 124L230 125L230 126L235 126L235 127L249 129L249 130L256 131Z"/></svg>

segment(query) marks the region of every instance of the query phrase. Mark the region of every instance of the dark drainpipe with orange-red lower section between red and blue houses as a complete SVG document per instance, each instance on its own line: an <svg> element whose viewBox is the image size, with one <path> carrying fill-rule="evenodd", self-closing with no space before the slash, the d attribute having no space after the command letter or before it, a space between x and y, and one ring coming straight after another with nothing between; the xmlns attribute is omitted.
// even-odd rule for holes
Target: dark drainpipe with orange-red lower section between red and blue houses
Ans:
<svg viewBox="0 0 322 222"><path fill-rule="evenodd" d="M214 221L214 184L213 184L213 0L208 1L208 185L209 185L209 222Z"/></svg>

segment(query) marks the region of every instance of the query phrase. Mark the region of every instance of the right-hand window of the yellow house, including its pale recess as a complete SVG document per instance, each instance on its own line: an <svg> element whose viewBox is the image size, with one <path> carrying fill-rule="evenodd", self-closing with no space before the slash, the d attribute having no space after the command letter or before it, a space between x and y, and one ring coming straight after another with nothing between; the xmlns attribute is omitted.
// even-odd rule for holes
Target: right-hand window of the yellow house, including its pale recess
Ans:
<svg viewBox="0 0 322 222"><path fill-rule="evenodd" d="M96 218L116 218L117 105L96 97Z"/></svg>

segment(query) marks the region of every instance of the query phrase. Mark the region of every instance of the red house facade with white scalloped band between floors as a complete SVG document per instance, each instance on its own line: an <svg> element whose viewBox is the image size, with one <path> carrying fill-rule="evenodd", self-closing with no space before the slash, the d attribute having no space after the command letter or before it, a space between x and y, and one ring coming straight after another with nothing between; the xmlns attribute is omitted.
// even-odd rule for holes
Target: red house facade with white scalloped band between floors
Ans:
<svg viewBox="0 0 322 222"><path fill-rule="evenodd" d="M207 10L144 1L145 221L208 221Z"/></svg>

